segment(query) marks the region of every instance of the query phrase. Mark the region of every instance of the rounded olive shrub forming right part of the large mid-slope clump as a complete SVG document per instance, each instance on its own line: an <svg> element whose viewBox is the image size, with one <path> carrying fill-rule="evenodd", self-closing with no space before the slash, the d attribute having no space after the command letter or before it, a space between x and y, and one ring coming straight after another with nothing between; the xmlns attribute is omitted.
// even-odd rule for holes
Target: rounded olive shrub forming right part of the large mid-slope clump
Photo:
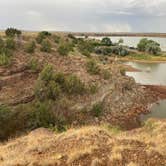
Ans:
<svg viewBox="0 0 166 166"><path fill-rule="evenodd" d="M83 94L85 85L75 75L69 75L65 79L64 90L69 94Z"/></svg>

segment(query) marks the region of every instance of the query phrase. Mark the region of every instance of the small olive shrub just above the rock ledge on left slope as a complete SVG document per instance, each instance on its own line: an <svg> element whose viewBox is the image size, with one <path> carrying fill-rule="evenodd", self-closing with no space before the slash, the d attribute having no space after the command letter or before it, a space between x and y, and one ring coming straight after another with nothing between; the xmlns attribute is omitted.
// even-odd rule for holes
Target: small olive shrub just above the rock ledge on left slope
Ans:
<svg viewBox="0 0 166 166"><path fill-rule="evenodd" d="M31 58L27 64L27 67L33 72L38 72L40 70L40 65L39 65L38 59Z"/></svg>

